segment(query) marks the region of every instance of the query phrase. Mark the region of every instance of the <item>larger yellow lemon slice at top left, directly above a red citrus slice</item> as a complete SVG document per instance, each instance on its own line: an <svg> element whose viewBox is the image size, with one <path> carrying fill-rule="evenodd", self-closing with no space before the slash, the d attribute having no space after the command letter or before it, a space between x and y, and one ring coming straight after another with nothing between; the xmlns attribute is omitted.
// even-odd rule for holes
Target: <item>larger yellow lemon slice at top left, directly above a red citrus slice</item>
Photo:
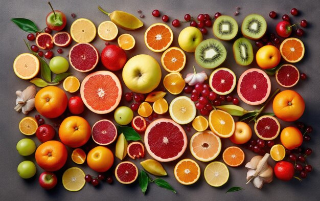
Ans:
<svg viewBox="0 0 320 201"><path fill-rule="evenodd" d="M70 34L72 39L78 43L91 42L96 37L97 29L89 19L79 18L72 23Z"/></svg>

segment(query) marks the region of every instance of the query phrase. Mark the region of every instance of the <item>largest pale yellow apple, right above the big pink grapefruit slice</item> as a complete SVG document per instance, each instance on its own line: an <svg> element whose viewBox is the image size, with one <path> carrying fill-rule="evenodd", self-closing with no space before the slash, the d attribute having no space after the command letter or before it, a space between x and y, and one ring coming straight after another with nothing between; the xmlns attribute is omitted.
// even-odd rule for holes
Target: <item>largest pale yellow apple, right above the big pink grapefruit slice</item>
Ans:
<svg viewBox="0 0 320 201"><path fill-rule="evenodd" d="M146 54L136 55L125 64L122 78L132 92L147 94L159 85L161 68L153 57Z"/></svg>

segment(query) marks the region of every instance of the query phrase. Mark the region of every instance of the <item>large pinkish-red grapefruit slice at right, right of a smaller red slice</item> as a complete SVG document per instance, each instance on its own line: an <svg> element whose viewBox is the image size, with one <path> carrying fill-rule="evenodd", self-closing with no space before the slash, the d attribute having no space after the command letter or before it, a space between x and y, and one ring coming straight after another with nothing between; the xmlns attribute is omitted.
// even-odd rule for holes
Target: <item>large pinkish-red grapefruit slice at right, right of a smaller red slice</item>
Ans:
<svg viewBox="0 0 320 201"><path fill-rule="evenodd" d="M237 92L239 98L249 105L259 105L270 95L271 82L260 69L248 69L239 78Z"/></svg>

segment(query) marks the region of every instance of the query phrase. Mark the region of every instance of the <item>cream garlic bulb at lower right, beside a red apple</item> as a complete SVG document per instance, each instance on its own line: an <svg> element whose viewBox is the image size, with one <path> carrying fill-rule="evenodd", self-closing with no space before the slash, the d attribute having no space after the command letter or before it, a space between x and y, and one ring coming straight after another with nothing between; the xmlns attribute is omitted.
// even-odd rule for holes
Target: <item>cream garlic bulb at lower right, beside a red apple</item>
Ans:
<svg viewBox="0 0 320 201"><path fill-rule="evenodd" d="M253 181L254 186L261 189L263 184L272 182L273 169L267 162L269 156L269 153L266 153L264 157L256 155L245 164L248 169L247 184Z"/></svg>

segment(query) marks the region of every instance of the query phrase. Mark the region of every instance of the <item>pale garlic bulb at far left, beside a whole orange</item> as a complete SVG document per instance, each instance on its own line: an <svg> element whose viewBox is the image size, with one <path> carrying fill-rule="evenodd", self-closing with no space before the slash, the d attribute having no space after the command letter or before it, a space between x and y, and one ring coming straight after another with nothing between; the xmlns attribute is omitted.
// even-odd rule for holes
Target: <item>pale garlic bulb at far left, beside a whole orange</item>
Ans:
<svg viewBox="0 0 320 201"><path fill-rule="evenodd" d="M28 86L24 91L16 91L17 99L15 101L16 106L14 109L16 111L21 111L25 115L29 113L34 108L34 97L36 95L35 85Z"/></svg>

